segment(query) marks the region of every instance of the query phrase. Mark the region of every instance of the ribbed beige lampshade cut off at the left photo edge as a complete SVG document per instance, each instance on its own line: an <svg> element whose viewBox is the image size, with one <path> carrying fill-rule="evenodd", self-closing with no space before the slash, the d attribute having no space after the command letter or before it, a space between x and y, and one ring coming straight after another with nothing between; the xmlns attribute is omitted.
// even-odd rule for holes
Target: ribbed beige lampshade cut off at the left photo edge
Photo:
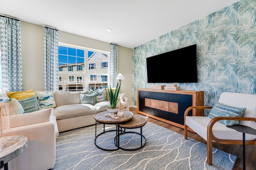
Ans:
<svg viewBox="0 0 256 170"><path fill-rule="evenodd" d="M10 131L10 108L8 103L0 103L0 136Z"/></svg>

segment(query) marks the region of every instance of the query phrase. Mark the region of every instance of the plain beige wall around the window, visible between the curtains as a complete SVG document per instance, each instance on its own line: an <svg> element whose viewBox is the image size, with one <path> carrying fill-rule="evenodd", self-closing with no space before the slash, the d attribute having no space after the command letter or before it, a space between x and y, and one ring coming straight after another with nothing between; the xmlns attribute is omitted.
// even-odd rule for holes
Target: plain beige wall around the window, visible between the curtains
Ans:
<svg viewBox="0 0 256 170"><path fill-rule="evenodd" d="M44 27L21 21L22 77L24 91L44 91ZM110 43L59 31L59 42L110 51ZM122 73L121 90L132 105L132 49L118 46L118 73Z"/></svg>

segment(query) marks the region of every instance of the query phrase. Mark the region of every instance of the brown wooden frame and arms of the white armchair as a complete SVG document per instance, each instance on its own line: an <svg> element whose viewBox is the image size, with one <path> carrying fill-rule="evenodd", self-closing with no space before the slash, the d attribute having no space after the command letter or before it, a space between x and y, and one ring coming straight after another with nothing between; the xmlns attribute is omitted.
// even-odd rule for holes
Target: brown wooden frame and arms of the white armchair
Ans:
<svg viewBox="0 0 256 170"><path fill-rule="evenodd" d="M184 114L184 138L188 138L188 126L186 125L186 116L188 116L188 112L191 109L212 109L212 106L192 106L188 107L186 109L185 114ZM220 144L243 144L242 140L222 140L216 138L213 133L212 133L212 127L213 125L220 121L220 120L236 120L236 121L254 121L256 122L256 118L252 117L215 117L212 119L207 126L207 163L209 165L212 165L212 140L215 142L218 142ZM256 144L256 139L254 140L246 140L246 144L248 145L254 145Z"/></svg>

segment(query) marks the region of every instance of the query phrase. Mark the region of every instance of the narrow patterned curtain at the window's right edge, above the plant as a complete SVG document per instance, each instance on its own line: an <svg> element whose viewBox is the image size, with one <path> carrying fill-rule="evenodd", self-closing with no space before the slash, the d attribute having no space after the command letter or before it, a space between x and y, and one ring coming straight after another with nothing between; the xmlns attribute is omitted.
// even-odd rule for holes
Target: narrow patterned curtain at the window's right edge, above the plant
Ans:
<svg viewBox="0 0 256 170"><path fill-rule="evenodd" d="M116 87L116 76L118 72L118 45L110 44L110 85Z"/></svg>

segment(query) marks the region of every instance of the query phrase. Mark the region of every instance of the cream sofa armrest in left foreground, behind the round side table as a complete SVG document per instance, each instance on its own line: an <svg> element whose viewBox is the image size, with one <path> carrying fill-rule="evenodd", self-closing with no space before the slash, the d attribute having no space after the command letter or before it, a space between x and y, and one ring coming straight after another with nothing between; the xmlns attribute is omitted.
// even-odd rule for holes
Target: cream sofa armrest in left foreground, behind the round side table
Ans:
<svg viewBox="0 0 256 170"><path fill-rule="evenodd" d="M8 162L9 170L48 170L55 164L55 130L51 122L35 123L11 128L4 136L22 135L28 138L27 148Z"/></svg>

